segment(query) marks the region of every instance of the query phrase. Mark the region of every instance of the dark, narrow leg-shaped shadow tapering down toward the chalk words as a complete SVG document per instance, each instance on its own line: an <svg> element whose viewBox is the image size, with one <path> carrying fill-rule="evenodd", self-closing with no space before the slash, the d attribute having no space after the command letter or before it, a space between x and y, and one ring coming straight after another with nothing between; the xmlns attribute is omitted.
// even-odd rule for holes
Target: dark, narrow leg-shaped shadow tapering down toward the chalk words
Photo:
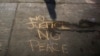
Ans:
<svg viewBox="0 0 100 56"><path fill-rule="evenodd" d="M55 0L44 0L48 9L48 12L50 14L50 17L53 21L56 20L56 12L55 12L55 7L56 7L56 2Z"/></svg>

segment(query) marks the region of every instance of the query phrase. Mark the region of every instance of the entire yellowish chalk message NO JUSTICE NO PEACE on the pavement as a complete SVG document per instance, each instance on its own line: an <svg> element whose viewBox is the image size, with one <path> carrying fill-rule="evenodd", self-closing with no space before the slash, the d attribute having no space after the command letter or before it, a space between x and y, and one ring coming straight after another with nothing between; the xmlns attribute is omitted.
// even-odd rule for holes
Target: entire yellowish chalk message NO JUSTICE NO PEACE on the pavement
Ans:
<svg viewBox="0 0 100 56"><path fill-rule="evenodd" d="M56 42L41 42L39 40L30 40L30 47L33 52L38 49L39 52L62 52L64 54L68 53L67 45L66 44L59 44L57 41L61 39L60 34L58 34L55 30L56 29L70 29L66 27L65 23L62 21L50 21L47 20L43 16L36 16L35 18L29 18L29 29L36 29L38 37L40 40L44 39L49 42L56 41ZM45 29L45 30L44 30ZM56 33L56 34L55 34ZM35 44L34 44L35 43Z"/></svg>

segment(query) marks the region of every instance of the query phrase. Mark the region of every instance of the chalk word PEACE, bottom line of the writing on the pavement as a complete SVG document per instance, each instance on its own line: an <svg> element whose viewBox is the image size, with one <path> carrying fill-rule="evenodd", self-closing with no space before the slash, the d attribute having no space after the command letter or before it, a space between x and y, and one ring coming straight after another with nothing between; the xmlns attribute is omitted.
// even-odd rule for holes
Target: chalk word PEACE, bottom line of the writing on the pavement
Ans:
<svg viewBox="0 0 100 56"><path fill-rule="evenodd" d="M32 43L34 43L34 42L37 43L37 44L33 45ZM62 53L68 53L66 44L62 44L60 46L60 48L57 49L57 47L59 46L58 43L52 43L52 44L41 43L38 40L30 40L30 43L31 43L32 51L35 51L34 47L37 47L40 52L46 51L46 52L53 53L53 52L61 52L62 51Z"/></svg>

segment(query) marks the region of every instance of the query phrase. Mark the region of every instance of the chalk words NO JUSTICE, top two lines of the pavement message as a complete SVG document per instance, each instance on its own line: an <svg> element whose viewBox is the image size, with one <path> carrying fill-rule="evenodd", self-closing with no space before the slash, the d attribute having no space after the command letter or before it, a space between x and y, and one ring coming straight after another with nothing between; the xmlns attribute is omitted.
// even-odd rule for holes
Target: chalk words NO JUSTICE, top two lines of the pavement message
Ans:
<svg viewBox="0 0 100 56"><path fill-rule="evenodd" d="M31 25L29 29L34 29L34 28L39 28L39 29L70 29L65 25L65 22L63 21L50 21L45 19L43 16L36 16L35 18L30 17L29 18L30 22L27 23Z"/></svg>

